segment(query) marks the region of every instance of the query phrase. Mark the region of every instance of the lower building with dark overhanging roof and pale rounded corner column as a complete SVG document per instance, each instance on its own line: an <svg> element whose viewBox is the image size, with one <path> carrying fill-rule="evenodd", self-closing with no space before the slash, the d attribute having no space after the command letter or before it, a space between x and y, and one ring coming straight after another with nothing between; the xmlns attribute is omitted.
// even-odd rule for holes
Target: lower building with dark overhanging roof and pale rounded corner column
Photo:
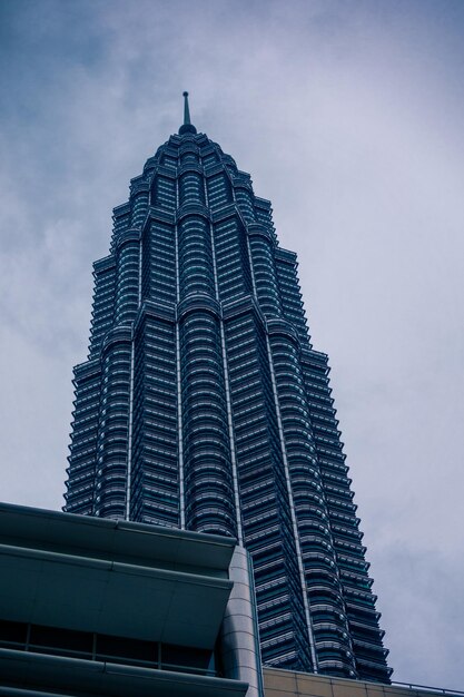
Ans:
<svg viewBox="0 0 464 697"><path fill-rule="evenodd" d="M260 697L248 565L230 538L0 504L0 695Z"/></svg>

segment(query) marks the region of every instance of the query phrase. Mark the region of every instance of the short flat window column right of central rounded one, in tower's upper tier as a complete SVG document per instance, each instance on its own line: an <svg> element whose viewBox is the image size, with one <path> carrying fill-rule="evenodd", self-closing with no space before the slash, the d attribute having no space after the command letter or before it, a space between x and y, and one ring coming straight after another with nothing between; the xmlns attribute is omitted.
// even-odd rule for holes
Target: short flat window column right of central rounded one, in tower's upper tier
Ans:
<svg viewBox="0 0 464 697"><path fill-rule="evenodd" d="M230 301L251 294L253 284L247 254L246 232L237 217L214 227L219 297Z"/></svg>

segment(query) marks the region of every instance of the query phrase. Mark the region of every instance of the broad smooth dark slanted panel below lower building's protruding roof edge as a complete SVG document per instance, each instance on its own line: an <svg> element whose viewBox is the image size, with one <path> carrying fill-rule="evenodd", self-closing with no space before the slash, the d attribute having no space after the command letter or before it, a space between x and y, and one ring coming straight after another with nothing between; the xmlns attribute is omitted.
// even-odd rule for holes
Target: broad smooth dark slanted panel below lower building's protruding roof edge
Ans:
<svg viewBox="0 0 464 697"><path fill-rule="evenodd" d="M0 548L0 616L213 648L233 583L23 548Z"/></svg>

